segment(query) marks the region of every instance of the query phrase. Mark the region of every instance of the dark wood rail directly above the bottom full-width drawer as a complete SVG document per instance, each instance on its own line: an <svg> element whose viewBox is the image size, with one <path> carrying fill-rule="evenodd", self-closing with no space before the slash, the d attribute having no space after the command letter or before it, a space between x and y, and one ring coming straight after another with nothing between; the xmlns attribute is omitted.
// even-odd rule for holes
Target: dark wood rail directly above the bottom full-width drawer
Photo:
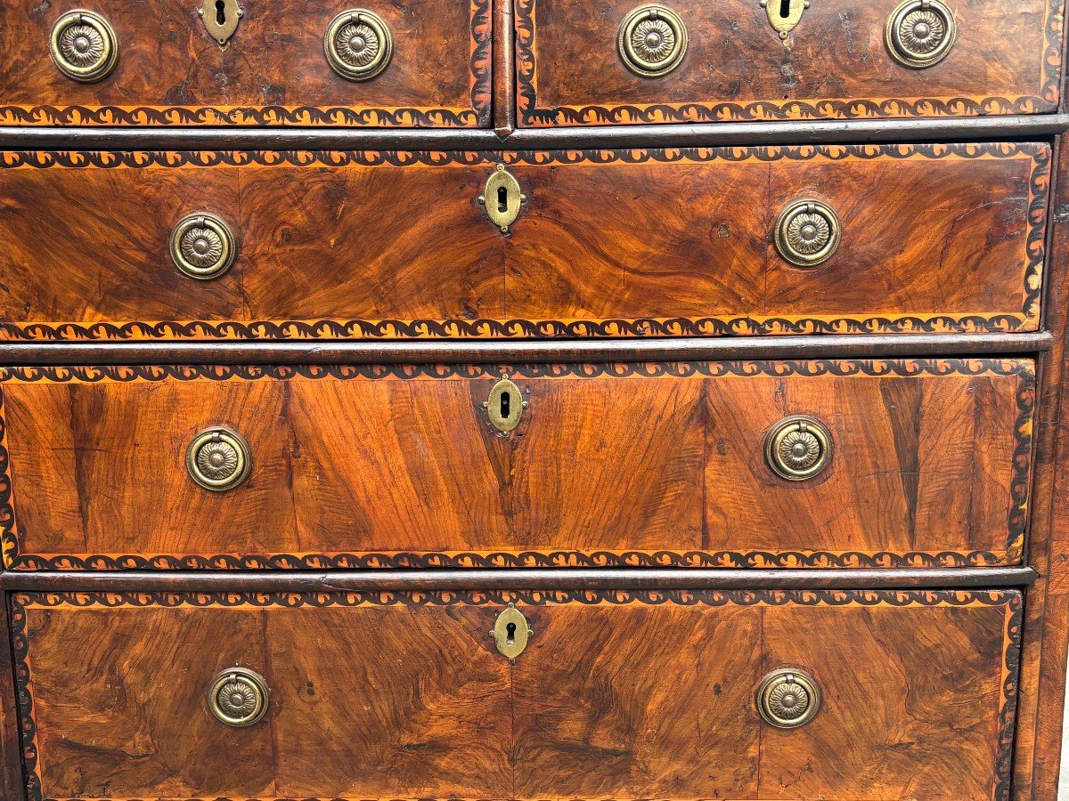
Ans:
<svg viewBox="0 0 1069 801"><path fill-rule="evenodd" d="M896 590L1028 586L1031 567L928 569L709 570L577 568L510 570L338 570L299 572L5 572L18 592L279 592L476 590Z"/></svg>

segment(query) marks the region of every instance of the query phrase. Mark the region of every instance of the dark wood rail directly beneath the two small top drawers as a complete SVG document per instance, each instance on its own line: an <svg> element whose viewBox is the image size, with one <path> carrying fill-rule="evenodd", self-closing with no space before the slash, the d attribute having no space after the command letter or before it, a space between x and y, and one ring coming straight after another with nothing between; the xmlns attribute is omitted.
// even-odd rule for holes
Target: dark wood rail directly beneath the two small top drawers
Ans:
<svg viewBox="0 0 1069 801"><path fill-rule="evenodd" d="M714 146L815 142L1049 139L1069 130L1069 114L920 120L815 120L694 125L484 129L108 128L0 126L5 150L554 150Z"/></svg>

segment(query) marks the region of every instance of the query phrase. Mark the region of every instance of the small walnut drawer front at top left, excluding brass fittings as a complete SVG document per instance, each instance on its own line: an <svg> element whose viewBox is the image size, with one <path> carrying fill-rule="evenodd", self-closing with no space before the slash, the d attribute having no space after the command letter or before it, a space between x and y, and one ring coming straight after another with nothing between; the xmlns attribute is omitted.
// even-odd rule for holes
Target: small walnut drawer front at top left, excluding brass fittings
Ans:
<svg viewBox="0 0 1069 801"><path fill-rule="evenodd" d="M490 0L239 5L244 16L222 48L199 14L203 0L5 2L0 124L489 124ZM367 80L336 73L324 49L332 20L353 9L376 15L392 42L385 68ZM75 10L98 14L118 42L114 70L96 82L72 80L49 56L53 27Z"/></svg>

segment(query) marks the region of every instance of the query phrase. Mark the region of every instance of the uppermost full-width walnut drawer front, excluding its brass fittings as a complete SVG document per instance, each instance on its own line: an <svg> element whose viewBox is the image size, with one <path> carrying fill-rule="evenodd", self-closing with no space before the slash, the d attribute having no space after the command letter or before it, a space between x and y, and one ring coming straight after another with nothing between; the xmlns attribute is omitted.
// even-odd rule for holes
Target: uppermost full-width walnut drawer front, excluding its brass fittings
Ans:
<svg viewBox="0 0 1069 801"><path fill-rule="evenodd" d="M527 198L508 236L478 202L498 158ZM1027 143L7 153L0 336L1029 331L1049 163ZM841 230L812 267L775 245L804 201ZM170 241L205 213L236 258L197 280Z"/></svg>

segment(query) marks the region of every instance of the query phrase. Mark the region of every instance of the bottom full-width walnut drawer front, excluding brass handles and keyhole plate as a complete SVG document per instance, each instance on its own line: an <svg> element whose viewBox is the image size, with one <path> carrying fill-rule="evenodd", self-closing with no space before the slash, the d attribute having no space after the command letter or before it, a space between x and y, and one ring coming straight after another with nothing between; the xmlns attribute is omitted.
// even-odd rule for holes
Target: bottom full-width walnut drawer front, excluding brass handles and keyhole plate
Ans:
<svg viewBox="0 0 1069 801"><path fill-rule="evenodd" d="M514 666L486 632L515 601ZM19 594L30 798L1008 799L1021 595ZM265 717L208 711L220 671ZM821 703L763 723L762 677Z"/></svg>

